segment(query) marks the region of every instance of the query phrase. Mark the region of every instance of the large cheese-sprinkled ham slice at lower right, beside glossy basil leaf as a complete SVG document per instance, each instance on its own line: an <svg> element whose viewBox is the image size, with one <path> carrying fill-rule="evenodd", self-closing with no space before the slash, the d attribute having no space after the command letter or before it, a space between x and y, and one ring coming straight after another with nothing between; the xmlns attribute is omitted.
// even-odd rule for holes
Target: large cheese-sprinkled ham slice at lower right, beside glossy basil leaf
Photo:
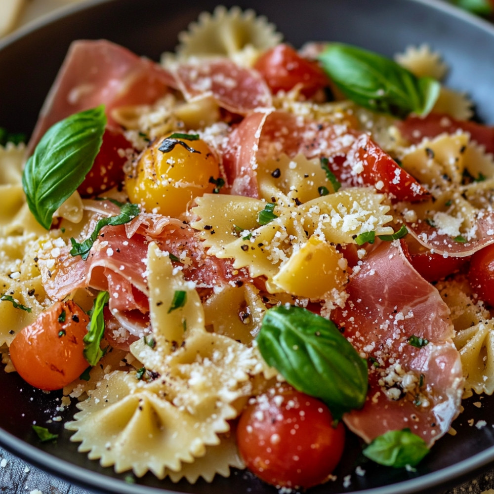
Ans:
<svg viewBox="0 0 494 494"><path fill-rule="evenodd" d="M367 442L410 428L432 445L459 413L463 392L448 307L399 242L375 247L347 292L344 309L331 317L368 359L369 392L345 423Z"/></svg>

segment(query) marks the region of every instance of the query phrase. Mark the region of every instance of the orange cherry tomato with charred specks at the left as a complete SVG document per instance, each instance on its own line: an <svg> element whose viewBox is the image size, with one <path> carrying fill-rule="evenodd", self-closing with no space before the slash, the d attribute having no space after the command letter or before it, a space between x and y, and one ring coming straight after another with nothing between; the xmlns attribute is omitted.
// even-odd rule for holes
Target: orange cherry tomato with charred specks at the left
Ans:
<svg viewBox="0 0 494 494"><path fill-rule="evenodd" d="M15 370L32 386L47 391L71 383L89 366L82 354L88 322L72 300L55 303L10 344Z"/></svg>

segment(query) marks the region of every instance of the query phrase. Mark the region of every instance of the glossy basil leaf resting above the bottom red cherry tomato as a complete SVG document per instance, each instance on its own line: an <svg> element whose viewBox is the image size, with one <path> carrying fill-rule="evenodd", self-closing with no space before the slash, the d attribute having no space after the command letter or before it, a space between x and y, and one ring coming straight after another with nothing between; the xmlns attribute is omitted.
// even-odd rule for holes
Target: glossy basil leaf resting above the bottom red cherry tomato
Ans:
<svg viewBox="0 0 494 494"><path fill-rule="evenodd" d="M268 365L297 390L324 401L335 419L364 405L367 364L328 319L301 307L273 307L257 345Z"/></svg>

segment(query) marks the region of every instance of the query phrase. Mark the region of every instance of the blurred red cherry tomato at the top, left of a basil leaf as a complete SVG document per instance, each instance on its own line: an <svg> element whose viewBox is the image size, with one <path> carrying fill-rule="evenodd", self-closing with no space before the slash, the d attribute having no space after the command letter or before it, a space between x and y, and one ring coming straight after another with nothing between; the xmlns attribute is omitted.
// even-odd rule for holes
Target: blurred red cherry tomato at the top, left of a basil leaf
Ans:
<svg viewBox="0 0 494 494"><path fill-rule="evenodd" d="M301 92L306 97L329 84L328 77L316 62L301 57L287 44L279 44L267 50L255 62L271 91L289 91L295 84L302 84Z"/></svg>

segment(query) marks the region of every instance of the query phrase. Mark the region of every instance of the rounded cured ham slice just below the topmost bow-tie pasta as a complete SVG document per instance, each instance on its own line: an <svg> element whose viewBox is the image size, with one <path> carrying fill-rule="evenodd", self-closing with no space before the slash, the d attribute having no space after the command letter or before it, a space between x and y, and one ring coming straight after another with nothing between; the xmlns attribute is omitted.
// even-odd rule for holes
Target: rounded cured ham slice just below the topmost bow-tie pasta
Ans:
<svg viewBox="0 0 494 494"><path fill-rule="evenodd" d="M180 63L171 73L187 101L212 97L222 108L240 115L272 106L271 91L261 76L228 59Z"/></svg>

